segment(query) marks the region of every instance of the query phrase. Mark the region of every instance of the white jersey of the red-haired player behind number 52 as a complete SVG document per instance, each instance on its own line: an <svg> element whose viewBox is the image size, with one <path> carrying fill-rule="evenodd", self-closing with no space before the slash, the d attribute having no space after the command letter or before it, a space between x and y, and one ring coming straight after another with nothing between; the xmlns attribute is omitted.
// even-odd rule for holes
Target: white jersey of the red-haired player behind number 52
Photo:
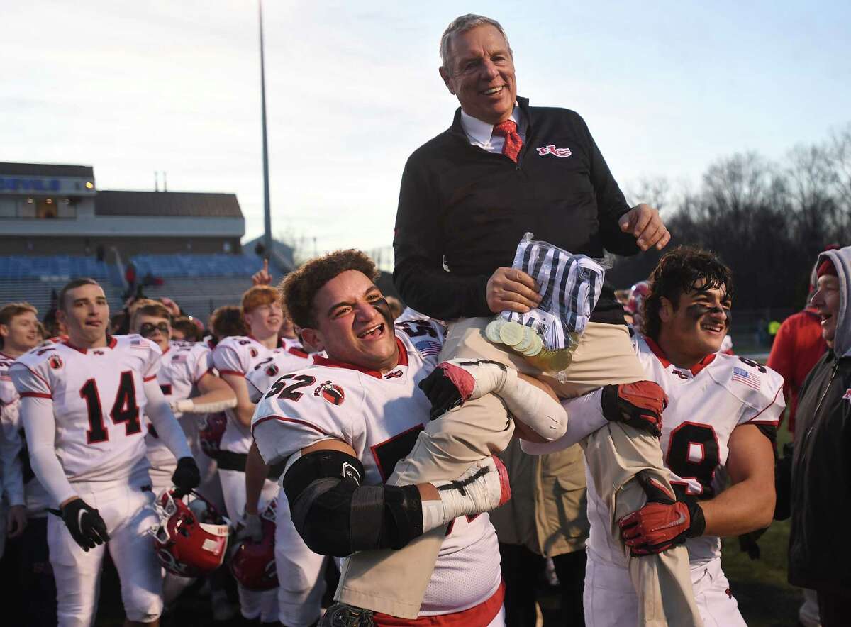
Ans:
<svg viewBox="0 0 851 627"><path fill-rule="evenodd" d="M222 339L213 351L213 364L220 375L232 374L238 377L248 377L254 367L278 353L287 351L283 341L273 349L268 349L256 339L234 335ZM251 386L248 385L250 392ZM237 419L236 409L226 409L227 428L221 437L220 449L233 453L248 453L251 448L251 430L243 426Z"/></svg>

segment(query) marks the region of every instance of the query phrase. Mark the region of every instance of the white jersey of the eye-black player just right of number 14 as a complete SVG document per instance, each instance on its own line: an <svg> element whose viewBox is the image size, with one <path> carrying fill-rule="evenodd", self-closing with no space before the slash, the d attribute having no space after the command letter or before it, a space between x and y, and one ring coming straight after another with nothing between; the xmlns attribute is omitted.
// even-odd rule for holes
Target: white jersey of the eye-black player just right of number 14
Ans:
<svg viewBox="0 0 851 627"><path fill-rule="evenodd" d="M182 401L193 396L192 391L196 389L197 382L205 374L212 372L213 354L203 344L173 340L168 343L168 350L163 353L160 363L161 368L157 373L157 383L163 390L165 400L168 402ZM180 412L174 413L174 418L178 419L180 427L186 433L186 441L193 451L198 448L193 440L197 438L197 423L202 416L203 414L199 413L190 413L186 416ZM174 464L174 454L157 436L157 430L153 428L151 421L146 419L146 424L145 443L151 465L159 467L160 465Z"/></svg>

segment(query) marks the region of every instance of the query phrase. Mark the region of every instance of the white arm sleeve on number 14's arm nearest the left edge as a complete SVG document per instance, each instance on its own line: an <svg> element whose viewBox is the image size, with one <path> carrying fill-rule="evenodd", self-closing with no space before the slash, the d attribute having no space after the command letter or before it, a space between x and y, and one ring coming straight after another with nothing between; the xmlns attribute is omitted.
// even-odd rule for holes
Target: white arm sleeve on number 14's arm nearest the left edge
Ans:
<svg viewBox="0 0 851 627"><path fill-rule="evenodd" d="M38 481L57 504L78 496L65 476L65 470L62 470L54 450L56 420L53 401L49 398L24 396L20 399L20 417L24 423L26 444L30 449L32 472Z"/></svg>

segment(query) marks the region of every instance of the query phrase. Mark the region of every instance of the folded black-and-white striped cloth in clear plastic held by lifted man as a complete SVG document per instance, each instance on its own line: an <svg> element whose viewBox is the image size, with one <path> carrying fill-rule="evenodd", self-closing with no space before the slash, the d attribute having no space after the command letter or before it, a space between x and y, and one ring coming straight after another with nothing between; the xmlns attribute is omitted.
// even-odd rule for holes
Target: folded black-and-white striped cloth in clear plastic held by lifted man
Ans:
<svg viewBox="0 0 851 627"><path fill-rule="evenodd" d="M568 253L532 237L532 233L523 236L511 267L526 272L538 283L540 305L525 314L502 311L500 316L534 328L551 351L570 348L568 333L581 335L585 331L606 272L587 255Z"/></svg>

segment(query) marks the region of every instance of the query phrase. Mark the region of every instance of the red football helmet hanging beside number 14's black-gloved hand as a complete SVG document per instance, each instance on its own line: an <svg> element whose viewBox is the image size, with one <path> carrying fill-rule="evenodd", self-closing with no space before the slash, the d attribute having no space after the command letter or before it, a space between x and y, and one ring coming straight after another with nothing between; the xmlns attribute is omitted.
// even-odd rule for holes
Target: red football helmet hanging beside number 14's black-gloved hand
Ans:
<svg viewBox="0 0 851 627"><path fill-rule="evenodd" d="M169 573L197 577L212 573L225 561L230 522L198 493L189 504L164 490L154 508L160 517L151 529L157 559Z"/></svg>

